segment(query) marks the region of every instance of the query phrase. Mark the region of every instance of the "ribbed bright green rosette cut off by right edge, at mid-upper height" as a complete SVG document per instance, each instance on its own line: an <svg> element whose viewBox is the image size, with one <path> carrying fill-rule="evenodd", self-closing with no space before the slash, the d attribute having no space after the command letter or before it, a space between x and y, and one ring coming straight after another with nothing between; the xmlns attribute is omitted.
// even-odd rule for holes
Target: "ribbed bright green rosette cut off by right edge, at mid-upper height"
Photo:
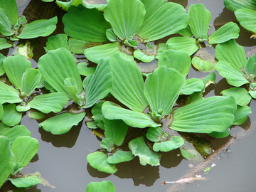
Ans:
<svg viewBox="0 0 256 192"><path fill-rule="evenodd" d="M215 48L215 57L219 60L216 70L225 78L228 84L235 87L250 85L249 94L256 99L256 55L246 58L245 50L235 40L221 43ZM234 93L240 89L235 89ZM250 102L250 96L243 93L245 105Z"/></svg>

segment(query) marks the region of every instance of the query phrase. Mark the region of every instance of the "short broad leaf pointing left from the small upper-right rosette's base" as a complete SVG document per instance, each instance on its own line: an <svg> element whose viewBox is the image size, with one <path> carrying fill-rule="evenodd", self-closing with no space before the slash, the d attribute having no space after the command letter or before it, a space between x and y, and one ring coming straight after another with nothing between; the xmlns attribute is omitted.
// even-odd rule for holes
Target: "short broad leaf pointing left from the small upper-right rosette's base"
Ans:
<svg viewBox="0 0 256 192"><path fill-rule="evenodd" d="M196 50L199 49L196 45L195 38L173 37L169 38L166 44L168 46L168 49L183 50L188 53L188 55L193 55L193 53L195 53Z"/></svg>

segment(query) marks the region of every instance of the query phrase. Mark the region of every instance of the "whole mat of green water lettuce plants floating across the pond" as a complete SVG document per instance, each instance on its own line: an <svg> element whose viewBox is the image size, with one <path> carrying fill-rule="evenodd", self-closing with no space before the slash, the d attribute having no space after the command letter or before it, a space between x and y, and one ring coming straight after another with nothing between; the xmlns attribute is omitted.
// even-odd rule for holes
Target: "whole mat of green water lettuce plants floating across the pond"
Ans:
<svg viewBox="0 0 256 192"><path fill-rule="evenodd" d="M229 7L236 4L224 2ZM159 166L161 153L174 149L180 149L186 159L195 158L193 151L183 147L183 137L166 127L221 138L230 134L233 124L247 119L251 112L247 105L256 98L256 56L247 59L235 42L240 31L236 23L226 23L208 36L210 11L203 4L191 5L186 13L183 6L165 0L56 3L68 11L63 16L65 34L48 38L38 68L31 68L24 55L0 54L0 75L8 78L0 81L0 172L4 173L0 186L7 178L17 187L41 182L36 175L18 174L38 150L28 129L17 125L23 112L40 119L38 126L47 132L65 134L90 111L87 127L104 132L104 137L102 148L89 154L87 161L108 174L117 171L116 164L135 156L140 164L151 166ZM0 8L0 49L11 47L9 41L48 36L55 30L56 17L26 24L23 16L18 18L15 1L1 3ZM236 16L240 18L240 13ZM176 33L181 36L154 44ZM203 79L186 77L191 63L198 70L215 70L213 60L198 55L191 60L198 49L214 44L218 44L216 69L235 87L223 90L223 96L203 98L206 87L215 83L215 73ZM78 63L74 54L84 54L95 67ZM134 58L144 63L157 59L158 68L143 74ZM175 105L181 95L186 95L187 102ZM49 113L50 118L45 115ZM145 129L146 134L129 139L129 127ZM115 191L110 181L90 183L86 191L95 188Z"/></svg>

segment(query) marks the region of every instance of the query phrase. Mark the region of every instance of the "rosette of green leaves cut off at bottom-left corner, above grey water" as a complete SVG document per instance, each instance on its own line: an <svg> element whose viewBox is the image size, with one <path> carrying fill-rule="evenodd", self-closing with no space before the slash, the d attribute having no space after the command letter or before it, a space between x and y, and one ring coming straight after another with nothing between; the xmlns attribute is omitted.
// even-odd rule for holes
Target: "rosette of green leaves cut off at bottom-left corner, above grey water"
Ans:
<svg viewBox="0 0 256 192"><path fill-rule="evenodd" d="M31 132L25 126L17 125L11 128L0 123L0 186L6 179L18 188L28 188L41 183L38 176L18 174L23 167L28 166L37 151L38 141L31 138Z"/></svg>

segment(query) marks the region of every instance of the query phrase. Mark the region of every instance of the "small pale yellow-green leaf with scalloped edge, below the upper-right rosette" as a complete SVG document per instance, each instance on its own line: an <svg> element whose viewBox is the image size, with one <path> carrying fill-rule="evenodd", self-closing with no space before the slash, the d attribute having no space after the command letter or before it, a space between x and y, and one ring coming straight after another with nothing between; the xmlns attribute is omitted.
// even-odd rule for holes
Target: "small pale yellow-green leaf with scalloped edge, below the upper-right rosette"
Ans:
<svg viewBox="0 0 256 192"><path fill-rule="evenodd" d="M215 70L215 63L210 60L203 60L197 56L193 56L192 64L199 71L211 72Z"/></svg>

